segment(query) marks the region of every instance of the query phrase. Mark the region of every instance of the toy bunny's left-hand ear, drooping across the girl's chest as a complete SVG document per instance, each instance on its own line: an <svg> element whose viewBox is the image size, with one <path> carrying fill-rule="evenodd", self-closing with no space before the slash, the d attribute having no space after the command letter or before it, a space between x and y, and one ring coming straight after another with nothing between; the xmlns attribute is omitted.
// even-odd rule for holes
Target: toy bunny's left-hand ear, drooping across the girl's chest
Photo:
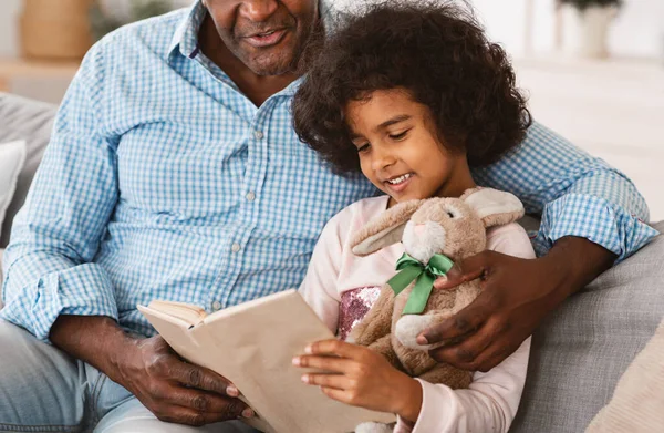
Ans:
<svg viewBox="0 0 664 433"><path fill-rule="evenodd" d="M401 240L406 223L424 200L408 200L391 207L369 221L351 239L353 254L369 256Z"/></svg>

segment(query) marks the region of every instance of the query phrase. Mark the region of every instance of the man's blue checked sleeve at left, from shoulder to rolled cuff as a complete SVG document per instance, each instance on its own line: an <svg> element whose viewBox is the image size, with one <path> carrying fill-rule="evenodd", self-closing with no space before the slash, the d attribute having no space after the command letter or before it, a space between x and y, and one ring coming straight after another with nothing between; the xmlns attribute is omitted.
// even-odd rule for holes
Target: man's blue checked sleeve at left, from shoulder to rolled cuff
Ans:
<svg viewBox="0 0 664 433"><path fill-rule="evenodd" d="M14 219L0 317L46 341L60 315L117 318L107 272L92 262L117 200L116 141L100 118L103 59L85 58Z"/></svg>

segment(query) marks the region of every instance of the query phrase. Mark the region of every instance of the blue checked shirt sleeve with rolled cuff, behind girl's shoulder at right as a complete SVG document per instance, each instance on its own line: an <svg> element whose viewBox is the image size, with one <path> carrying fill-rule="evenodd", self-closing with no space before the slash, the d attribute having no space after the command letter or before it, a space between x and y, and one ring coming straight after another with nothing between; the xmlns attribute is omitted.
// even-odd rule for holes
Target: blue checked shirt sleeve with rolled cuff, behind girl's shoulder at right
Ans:
<svg viewBox="0 0 664 433"><path fill-rule="evenodd" d="M517 195L526 213L541 215L533 239L538 256L575 236L623 260L657 235L645 224L643 196L624 174L539 123L515 153L473 175L480 185Z"/></svg>

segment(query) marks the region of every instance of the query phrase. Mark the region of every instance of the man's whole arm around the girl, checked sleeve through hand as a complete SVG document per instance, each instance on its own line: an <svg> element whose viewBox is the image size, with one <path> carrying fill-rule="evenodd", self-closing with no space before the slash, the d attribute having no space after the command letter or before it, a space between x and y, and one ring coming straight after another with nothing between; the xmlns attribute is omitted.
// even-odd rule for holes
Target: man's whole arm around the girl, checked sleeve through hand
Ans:
<svg viewBox="0 0 664 433"><path fill-rule="evenodd" d="M419 341L454 340L432 355L488 371L564 299L657 231L644 223L647 206L624 175L537 123L521 148L474 175L481 185L515 193L528 213L541 213L533 240L541 257L523 260L485 251L458 262L436 288L481 278L483 292Z"/></svg>

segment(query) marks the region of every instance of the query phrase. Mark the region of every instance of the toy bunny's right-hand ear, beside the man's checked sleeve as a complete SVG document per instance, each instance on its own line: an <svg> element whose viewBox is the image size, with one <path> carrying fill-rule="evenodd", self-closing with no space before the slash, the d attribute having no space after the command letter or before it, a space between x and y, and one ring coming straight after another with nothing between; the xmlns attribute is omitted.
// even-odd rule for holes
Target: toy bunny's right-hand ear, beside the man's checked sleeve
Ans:
<svg viewBox="0 0 664 433"><path fill-rule="evenodd" d="M523 216L523 204L513 194L492 188L468 189L460 197L481 218L485 227L513 223Z"/></svg>

